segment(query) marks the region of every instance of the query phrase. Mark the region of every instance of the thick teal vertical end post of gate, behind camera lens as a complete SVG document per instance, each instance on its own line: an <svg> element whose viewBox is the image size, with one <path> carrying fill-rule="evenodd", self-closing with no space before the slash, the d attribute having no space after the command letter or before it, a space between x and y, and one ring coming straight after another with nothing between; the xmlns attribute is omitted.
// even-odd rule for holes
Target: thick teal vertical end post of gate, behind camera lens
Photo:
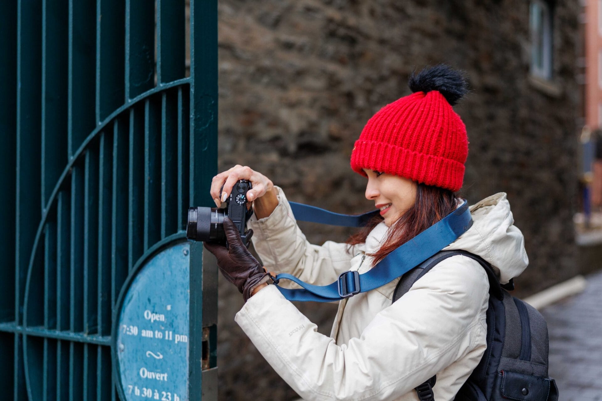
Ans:
<svg viewBox="0 0 602 401"><path fill-rule="evenodd" d="M217 173L217 0L190 0L190 78L190 204L211 206L209 188ZM191 244L190 401L200 401L203 390L203 301L209 302L202 292L205 267L214 268L203 266L202 245Z"/></svg>

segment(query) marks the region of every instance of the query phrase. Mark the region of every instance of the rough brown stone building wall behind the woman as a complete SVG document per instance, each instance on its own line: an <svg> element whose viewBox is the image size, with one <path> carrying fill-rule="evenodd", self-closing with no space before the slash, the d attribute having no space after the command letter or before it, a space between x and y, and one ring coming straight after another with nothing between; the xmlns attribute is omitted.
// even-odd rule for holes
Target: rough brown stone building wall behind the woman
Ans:
<svg viewBox="0 0 602 401"><path fill-rule="evenodd" d="M529 1L221 0L219 170L249 165L290 200L371 210L349 167L353 142L374 112L410 93L413 69L448 63L471 87L455 107L470 141L462 195L507 192L530 259L520 294L572 277L579 4L548 4L545 80L530 74ZM351 233L302 227L312 243ZM220 399L294 399L234 323L241 296L225 280L219 290ZM299 308L329 332L336 305Z"/></svg>

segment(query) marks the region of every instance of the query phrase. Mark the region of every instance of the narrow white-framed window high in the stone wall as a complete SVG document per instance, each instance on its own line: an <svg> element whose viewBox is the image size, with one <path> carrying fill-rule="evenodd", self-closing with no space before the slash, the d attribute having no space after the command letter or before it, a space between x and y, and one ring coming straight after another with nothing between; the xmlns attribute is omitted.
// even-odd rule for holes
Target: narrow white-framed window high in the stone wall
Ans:
<svg viewBox="0 0 602 401"><path fill-rule="evenodd" d="M545 0L532 0L529 10L531 73L552 78L552 13Z"/></svg>

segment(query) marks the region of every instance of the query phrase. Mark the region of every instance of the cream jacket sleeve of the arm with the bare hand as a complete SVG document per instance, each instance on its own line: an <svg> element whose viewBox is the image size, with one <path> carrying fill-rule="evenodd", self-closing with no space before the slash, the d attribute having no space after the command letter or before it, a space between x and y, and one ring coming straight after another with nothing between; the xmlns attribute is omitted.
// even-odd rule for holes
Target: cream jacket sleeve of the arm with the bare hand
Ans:
<svg viewBox="0 0 602 401"><path fill-rule="evenodd" d="M346 243L326 241L312 245L297 225L287 197L278 186L278 206L271 215L257 219L253 216L247 227L253 229L251 241L264 266L276 274L289 273L312 284L330 284L338 275L349 270L350 260L358 246L347 252ZM281 281L281 286L297 286Z"/></svg>

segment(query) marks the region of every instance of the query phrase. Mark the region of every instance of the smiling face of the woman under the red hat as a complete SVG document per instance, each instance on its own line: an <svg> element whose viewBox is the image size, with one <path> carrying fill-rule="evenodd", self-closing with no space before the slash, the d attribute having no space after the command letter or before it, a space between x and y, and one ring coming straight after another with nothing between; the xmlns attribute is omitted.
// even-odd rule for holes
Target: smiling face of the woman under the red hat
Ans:
<svg viewBox="0 0 602 401"><path fill-rule="evenodd" d="M380 215L385 218L385 225L397 221L403 213L412 207L416 201L417 185L414 181L392 174L363 169L368 175L366 199L374 201L374 206L380 209Z"/></svg>

